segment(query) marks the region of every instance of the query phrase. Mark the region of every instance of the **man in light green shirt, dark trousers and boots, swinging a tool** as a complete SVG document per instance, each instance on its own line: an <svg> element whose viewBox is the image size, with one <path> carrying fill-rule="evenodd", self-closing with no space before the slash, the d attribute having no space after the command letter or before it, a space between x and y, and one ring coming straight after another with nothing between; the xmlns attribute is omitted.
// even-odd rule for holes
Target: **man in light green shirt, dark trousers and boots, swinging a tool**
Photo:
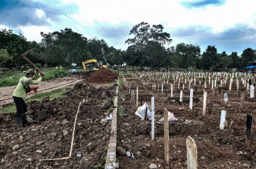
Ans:
<svg viewBox="0 0 256 169"><path fill-rule="evenodd" d="M37 78L38 71L39 71L39 68L36 69L36 72L33 69L28 69L27 72L25 72L26 75L22 76L19 79L18 85L12 94L12 97L17 109L16 116L15 116L15 123L17 125L18 131L24 130L27 128L27 127L23 127L23 125L27 123L27 120L25 119L27 104L23 100L27 98L27 93L29 93L30 91L30 90L28 91L27 88L29 88L30 84L39 84L42 81L42 78L45 76L43 73L40 72L41 77Z"/></svg>

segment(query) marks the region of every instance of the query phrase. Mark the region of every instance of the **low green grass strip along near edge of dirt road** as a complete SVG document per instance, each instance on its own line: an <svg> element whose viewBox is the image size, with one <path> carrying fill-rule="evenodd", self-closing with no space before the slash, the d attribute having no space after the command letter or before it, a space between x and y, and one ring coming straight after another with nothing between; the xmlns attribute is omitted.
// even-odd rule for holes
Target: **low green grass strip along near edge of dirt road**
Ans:
<svg viewBox="0 0 256 169"><path fill-rule="evenodd" d="M59 88L56 90L53 90L51 92L46 93L37 93L36 95L30 97L29 99L26 99L25 102L30 102L34 99L38 99L38 101L42 101L45 97L49 96L50 101L57 97L64 97L62 94L65 93L65 89L67 87ZM7 105L4 105L3 108L0 110L0 114L2 113L15 113L16 112L16 106L15 103L9 103Z"/></svg>

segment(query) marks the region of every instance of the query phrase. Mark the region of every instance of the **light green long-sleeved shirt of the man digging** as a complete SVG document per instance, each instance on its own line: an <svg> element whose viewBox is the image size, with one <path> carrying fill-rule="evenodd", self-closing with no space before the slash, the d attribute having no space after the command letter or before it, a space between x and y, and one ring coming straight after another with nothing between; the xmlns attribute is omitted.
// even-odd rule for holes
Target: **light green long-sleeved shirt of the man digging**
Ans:
<svg viewBox="0 0 256 169"><path fill-rule="evenodd" d="M28 85L39 84L42 81L42 77L39 77L37 80L35 80L37 78L37 74L38 73L36 72L35 75L33 76L33 78L31 78L31 77L28 78L27 75L20 77L18 85L15 88L12 95L15 97L26 98L27 93L25 92L25 89L24 89L23 85L21 84L21 79L23 78L22 82L25 85L25 87L27 88Z"/></svg>

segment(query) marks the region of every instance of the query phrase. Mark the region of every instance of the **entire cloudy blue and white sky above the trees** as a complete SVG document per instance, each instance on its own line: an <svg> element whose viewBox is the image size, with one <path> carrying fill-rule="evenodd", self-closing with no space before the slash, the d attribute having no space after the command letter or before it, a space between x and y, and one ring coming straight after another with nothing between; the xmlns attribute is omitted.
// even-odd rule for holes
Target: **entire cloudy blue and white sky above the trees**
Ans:
<svg viewBox="0 0 256 169"><path fill-rule="evenodd" d="M126 50L133 26L163 25L173 42L215 45L218 53L256 49L255 0L0 0L0 29L40 42L40 32L72 28Z"/></svg>

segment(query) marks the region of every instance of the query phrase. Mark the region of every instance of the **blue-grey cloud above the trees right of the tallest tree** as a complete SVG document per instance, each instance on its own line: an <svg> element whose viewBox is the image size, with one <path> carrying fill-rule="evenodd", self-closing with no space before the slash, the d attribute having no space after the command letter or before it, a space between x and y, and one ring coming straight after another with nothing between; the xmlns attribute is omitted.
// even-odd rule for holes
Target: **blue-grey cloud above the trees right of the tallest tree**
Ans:
<svg viewBox="0 0 256 169"><path fill-rule="evenodd" d="M211 27L203 25L179 27L168 29L168 31L171 32L171 38L174 39L174 43L171 45L179 42L191 42L192 44L200 45L201 52L208 45L215 45L218 52L226 51L227 53L243 51L248 47L256 49L256 29L244 24L237 24L235 27L225 29L221 33L214 33Z"/></svg>

